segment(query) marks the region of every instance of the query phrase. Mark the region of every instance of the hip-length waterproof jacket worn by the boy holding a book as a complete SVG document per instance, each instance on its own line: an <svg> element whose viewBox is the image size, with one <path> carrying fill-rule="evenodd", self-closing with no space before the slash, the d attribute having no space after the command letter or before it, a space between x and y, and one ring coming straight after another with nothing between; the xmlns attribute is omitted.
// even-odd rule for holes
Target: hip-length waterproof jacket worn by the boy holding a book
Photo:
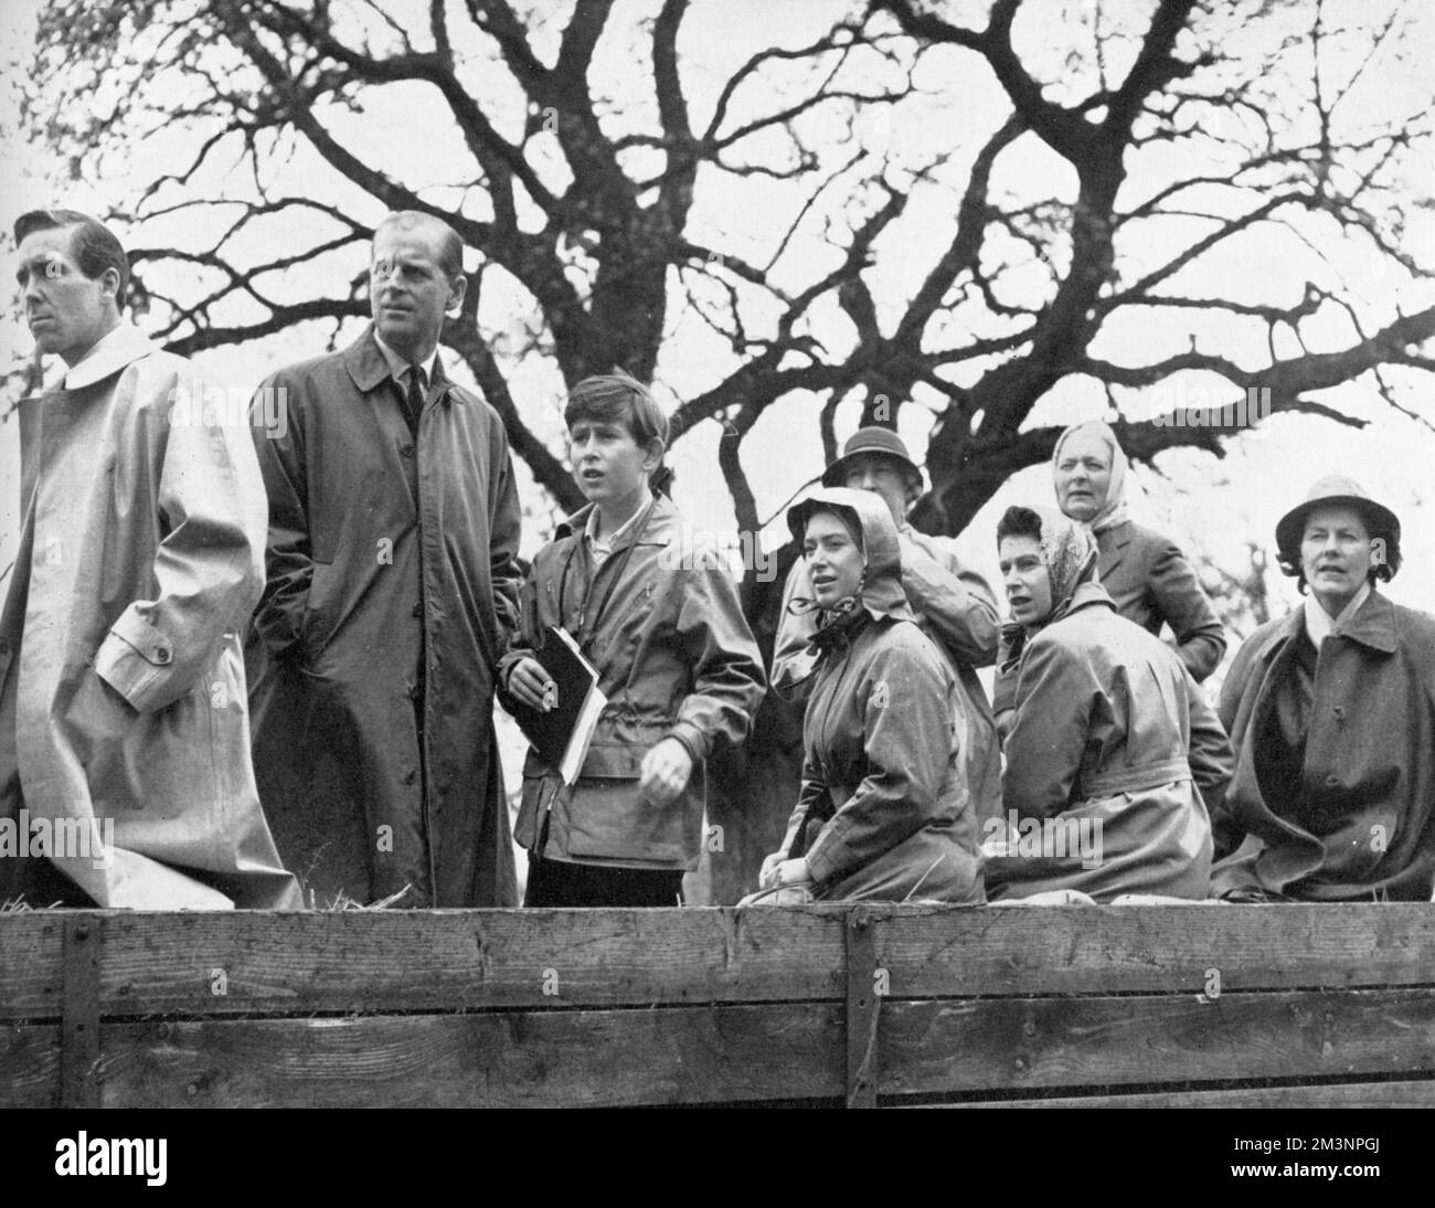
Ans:
<svg viewBox="0 0 1435 1208"><path fill-rule="evenodd" d="M670 499L653 498L597 574L584 548L591 512L590 504L561 522L534 560L499 700L514 703L508 673L548 627L563 626L597 667L608 703L573 785L528 752L515 836L544 859L692 871L702 849L705 760L719 743L748 736L766 692L762 656L732 574L712 551L684 548ZM693 770L677 799L659 806L637 786L643 758L666 737L687 749Z"/></svg>

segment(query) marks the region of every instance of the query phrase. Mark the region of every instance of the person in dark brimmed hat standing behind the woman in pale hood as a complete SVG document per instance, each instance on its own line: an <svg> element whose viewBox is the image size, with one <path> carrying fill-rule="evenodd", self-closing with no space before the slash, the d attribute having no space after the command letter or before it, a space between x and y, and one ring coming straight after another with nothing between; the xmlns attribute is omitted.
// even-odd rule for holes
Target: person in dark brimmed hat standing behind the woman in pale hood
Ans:
<svg viewBox="0 0 1435 1208"><path fill-rule="evenodd" d="M824 486L848 486L880 495L897 525L901 544L901 585L913 613L957 674L953 717L957 750L979 818L1002 809L1000 739L992 720L976 667L996 660L1000 623L996 597L986 580L967 570L956 542L928 537L907 524L907 512L921 496L921 469L901 438L888 428L860 428L827 468ZM794 613L794 600L811 600L806 562L798 560L782 591L782 620L772 653L772 686L788 700L805 700L814 656L808 643L817 631L815 613Z"/></svg>

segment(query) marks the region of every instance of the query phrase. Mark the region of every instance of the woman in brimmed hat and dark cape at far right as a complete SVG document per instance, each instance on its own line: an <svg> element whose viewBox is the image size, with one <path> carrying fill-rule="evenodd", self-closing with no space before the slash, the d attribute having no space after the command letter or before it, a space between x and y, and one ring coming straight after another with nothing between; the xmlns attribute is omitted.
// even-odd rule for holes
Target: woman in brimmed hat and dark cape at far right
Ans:
<svg viewBox="0 0 1435 1208"><path fill-rule="evenodd" d="M1428 901L1435 885L1435 617L1378 590L1401 522L1322 478L1276 525L1307 598L1246 641L1221 689L1236 776L1213 809L1213 892Z"/></svg>

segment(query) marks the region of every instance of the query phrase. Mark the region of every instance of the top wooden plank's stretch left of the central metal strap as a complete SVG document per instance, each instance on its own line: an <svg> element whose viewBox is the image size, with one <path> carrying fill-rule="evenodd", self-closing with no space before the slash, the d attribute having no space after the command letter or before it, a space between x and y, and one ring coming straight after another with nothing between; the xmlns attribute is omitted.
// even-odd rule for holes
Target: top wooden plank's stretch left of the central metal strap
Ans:
<svg viewBox="0 0 1435 1208"><path fill-rule="evenodd" d="M16 918L13 928L0 918L0 1017L57 1014L53 924ZM837 1001L844 993L842 912L834 910L108 914L103 934L108 1016Z"/></svg>

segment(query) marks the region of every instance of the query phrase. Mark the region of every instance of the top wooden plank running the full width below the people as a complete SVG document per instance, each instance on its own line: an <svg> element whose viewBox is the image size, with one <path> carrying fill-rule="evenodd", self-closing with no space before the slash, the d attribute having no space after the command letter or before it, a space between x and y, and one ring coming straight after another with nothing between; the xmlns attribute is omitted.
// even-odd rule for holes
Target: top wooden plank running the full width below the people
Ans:
<svg viewBox="0 0 1435 1208"><path fill-rule="evenodd" d="M847 910L96 912L100 993L110 1017L841 1003ZM867 910L901 999L1435 984L1425 905ZM55 914L0 915L0 1019L59 1017L60 955Z"/></svg>

